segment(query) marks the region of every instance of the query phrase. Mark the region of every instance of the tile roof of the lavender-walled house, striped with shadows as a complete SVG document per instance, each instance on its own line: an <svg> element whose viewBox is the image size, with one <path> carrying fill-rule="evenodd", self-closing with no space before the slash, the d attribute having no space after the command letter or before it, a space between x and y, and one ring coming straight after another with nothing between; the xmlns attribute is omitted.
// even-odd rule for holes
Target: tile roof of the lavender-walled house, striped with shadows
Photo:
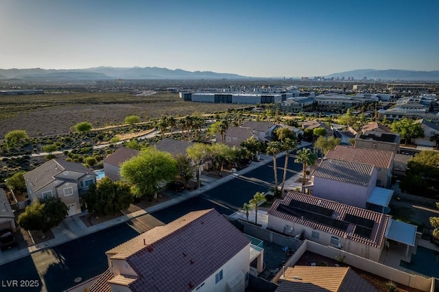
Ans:
<svg viewBox="0 0 439 292"><path fill-rule="evenodd" d="M367 186L374 170L373 165L324 158L313 169L311 176Z"/></svg>

